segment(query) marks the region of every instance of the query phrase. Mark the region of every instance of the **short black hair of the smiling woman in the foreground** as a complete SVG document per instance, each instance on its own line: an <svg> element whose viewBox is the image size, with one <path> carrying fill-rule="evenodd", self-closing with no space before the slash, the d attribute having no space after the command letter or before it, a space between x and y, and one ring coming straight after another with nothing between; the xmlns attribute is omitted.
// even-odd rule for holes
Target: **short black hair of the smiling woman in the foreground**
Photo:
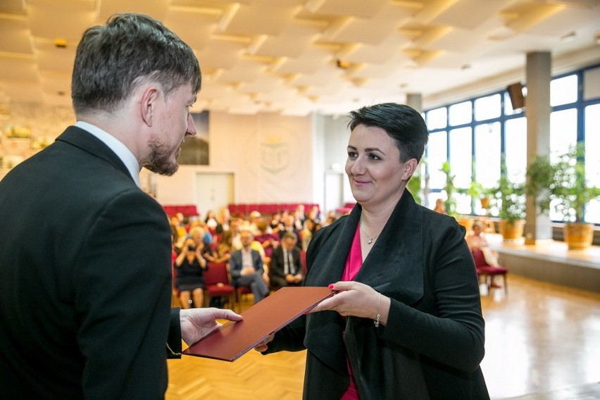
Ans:
<svg viewBox="0 0 600 400"><path fill-rule="evenodd" d="M382 103L359 108L349 113L350 130L358 125L380 127L394 139L400 150L400 161L420 161L429 137L425 120L414 108L404 104Z"/></svg>

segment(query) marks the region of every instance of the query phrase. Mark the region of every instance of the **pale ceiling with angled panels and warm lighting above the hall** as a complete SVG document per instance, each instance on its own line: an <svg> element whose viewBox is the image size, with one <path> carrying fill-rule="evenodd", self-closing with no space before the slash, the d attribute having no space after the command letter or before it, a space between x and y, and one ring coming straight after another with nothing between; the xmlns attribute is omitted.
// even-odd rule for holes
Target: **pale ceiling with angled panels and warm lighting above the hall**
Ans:
<svg viewBox="0 0 600 400"><path fill-rule="evenodd" d="M338 114L408 93L427 106L522 79L530 51L555 68L600 62L600 0L0 0L0 101L70 106L82 32L118 12L196 51L194 111Z"/></svg>

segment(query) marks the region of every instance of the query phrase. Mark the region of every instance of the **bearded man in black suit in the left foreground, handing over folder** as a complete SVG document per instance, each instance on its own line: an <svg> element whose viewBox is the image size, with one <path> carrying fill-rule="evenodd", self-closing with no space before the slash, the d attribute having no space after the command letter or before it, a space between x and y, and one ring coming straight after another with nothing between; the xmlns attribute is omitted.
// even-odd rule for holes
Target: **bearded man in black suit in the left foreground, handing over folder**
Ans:
<svg viewBox="0 0 600 400"><path fill-rule="evenodd" d="M146 15L87 30L77 123L0 182L0 391L161 399L165 353L232 311L170 309L171 235L139 169L171 175L200 88L192 49Z"/></svg>

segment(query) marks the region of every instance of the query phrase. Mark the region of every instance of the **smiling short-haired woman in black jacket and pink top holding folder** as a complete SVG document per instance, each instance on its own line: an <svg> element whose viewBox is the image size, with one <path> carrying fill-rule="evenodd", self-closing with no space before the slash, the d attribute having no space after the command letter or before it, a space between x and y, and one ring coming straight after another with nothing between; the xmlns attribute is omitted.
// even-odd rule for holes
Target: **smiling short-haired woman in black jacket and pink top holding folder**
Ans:
<svg viewBox="0 0 600 400"><path fill-rule="evenodd" d="M352 111L349 127L357 204L318 230L306 255L305 285L336 294L256 349L307 349L304 399L489 399L464 228L406 190L427 144L425 121L389 103Z"/></svg>

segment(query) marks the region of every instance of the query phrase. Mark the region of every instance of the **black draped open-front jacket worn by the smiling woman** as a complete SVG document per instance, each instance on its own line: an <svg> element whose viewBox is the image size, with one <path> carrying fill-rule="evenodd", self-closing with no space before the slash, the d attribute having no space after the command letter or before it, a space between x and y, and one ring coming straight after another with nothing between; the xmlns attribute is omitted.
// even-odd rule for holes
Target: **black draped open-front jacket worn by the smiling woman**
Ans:
<svg viewBox="0 0 600 400"><path fill-rule="evenodd" d="M316 232L306 286L342 277L360 216L357 205ZM489 399L479 287L464 236L454 218L405 191L356 275L392 299L387 325L308 314L278 332L267 352L308 349L305 399L339 399L349 385L346 354L361 399Z"/></svg>

